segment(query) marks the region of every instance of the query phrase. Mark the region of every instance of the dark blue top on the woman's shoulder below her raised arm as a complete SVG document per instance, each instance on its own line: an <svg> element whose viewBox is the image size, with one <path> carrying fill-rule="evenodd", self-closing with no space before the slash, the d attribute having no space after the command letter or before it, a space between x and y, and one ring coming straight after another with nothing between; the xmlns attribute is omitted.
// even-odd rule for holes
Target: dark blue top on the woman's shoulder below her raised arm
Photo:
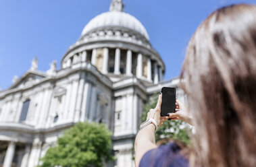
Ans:
<svg viewBox="0 0 256 167"><path fill-rule="evenodd" d="M180 155L180 147L173 142L146 152L139 167L188 167L188 159Z"/></svg>

